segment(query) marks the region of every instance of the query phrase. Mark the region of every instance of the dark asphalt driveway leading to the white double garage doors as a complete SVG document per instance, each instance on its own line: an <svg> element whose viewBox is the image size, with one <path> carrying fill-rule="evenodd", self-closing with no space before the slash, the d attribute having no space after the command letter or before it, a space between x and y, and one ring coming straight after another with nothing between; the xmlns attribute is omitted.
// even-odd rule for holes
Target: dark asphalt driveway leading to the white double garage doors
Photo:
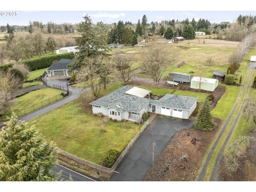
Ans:
<svg viewBox="0 0 256 192"><path fill-rule="evenodd" d="M175 133L190 129L193 124L194 121L188 119L155 117L118 165L115 171L119 173L114 173L110 181L143 181L152 166L153 143L155 162Z"/></svg>

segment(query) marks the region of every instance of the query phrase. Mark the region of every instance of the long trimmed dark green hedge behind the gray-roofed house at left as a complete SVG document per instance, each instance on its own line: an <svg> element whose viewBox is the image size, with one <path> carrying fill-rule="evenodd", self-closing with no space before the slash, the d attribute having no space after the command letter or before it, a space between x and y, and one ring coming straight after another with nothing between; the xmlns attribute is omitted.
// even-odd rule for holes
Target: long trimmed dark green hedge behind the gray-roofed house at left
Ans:
<svg viewBox="0 0 256 192"><path fill-rule="evenodd" d="M50 67L52 65L52 62L55 60L74 59L74 58L75 58L75 54L73 52L70 52L70 53L50 55L50 56L42 57L38 59L25 60L21 62L24 63L26 66L28 66L30 71L33 71L37 69Z"/></svg>

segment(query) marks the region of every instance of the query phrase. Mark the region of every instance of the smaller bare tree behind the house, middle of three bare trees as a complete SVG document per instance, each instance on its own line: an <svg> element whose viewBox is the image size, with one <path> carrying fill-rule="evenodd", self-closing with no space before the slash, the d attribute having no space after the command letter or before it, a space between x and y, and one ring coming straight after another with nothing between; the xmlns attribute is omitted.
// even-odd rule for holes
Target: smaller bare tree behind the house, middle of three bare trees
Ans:
<svg viewBox="0 0 256 192"><path fill-rule="evenodd" d="M124 84L126 84L132 77L132 65L133 58L125 57L121 52L116 52L113 61L115 63L115 68L119 71Z"/></svg>

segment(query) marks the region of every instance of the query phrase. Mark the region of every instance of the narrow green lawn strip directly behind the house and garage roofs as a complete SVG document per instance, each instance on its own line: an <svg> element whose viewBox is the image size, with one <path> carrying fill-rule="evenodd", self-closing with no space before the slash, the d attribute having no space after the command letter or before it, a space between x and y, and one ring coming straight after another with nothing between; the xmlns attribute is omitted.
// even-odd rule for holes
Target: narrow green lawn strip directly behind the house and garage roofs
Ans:
<svg viewBox="0 0 256 192"><path fill-rule="evenodd" d="M173 89L168 89L163 87L151 87L151 86L138 86L138 87L141 87L142 89L150 90L152 94L155 94L155 95L165 95L167 93L171 94L174 91ZM207 96L206 93L199 93L194 91L183 91L183 90L176 90L173 94L183 95L187 97L196 97L198 98L198 102L204 101Z"/></svg>

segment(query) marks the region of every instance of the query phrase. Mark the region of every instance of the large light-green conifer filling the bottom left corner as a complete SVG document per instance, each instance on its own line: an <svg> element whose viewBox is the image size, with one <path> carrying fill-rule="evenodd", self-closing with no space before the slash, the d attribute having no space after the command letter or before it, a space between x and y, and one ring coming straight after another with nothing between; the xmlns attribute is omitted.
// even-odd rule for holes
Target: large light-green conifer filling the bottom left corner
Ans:
<svg viewBox="0 0 256 192"><path fill-rule="evenodd" d="M53 142L46 143L34 126L12 114L0 132L0 181L55 181Z"/></svg>

